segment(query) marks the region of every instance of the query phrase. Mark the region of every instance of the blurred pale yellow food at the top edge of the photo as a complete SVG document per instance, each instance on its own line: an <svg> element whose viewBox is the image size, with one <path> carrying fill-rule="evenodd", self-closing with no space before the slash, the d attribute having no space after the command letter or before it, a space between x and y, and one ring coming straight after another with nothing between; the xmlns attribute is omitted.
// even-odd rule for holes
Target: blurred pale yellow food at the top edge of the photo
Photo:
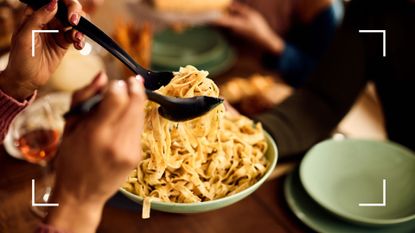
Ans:
<svg viewBox="0 0 415 233"><path fill-rule="evenodd" d="M232 2L232 0L152 0L154 6L161 11L176 12L201 12L211 10L224 10Z"/></svg>

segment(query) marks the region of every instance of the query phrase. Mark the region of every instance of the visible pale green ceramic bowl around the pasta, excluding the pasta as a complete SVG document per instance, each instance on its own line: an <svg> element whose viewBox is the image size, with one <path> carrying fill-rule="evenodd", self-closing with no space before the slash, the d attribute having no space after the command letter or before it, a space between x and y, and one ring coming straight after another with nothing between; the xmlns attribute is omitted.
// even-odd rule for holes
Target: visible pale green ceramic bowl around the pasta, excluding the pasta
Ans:
<svg viewBox="0 0 415 233"><path fill-rule="evenodd" d="M268 133L265 133L265 136L266 136L267 143L268 143L268 150L265 156L269 160L270 166L268 167L268 170L266 171L264 176L251 187L239 193L236 193L232 196L224 197L224 198L213 200L213 201L198 202L198 203L168 203L168 202L153 201L151 203L151 209L159 210L163 212L169 212L169 213L200 213L200 212L216 210L216 209L229 206L249 196L251 193L257 190L267 180L267 178L271 175L272 171L274 170L277 164L277 158L278 158L277 146L274 140L271 138L271 136ZM132 201L137 202L139 204L143 203L143 198L135 194L132 194L122 188L120 189L120 191L122 194L127 196Z"/></svg>

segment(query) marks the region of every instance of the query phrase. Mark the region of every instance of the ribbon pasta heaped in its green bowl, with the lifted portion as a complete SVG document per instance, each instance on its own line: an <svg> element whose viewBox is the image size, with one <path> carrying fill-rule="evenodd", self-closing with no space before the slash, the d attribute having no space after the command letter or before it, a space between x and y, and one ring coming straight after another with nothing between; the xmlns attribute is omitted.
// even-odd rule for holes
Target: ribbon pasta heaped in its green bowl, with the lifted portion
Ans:
<svg viewBox="0 0 415 233"><path fill-rule="evenodd" d="M175 97L219 96L206 71L181 68L158 90ZM233 204L255 191L272 173L277 148L260 123L231 115L220 105L186 122L162 118L148 102L142 135L143 160L121 192L152 209L172 213L210 211Z"/></svg>

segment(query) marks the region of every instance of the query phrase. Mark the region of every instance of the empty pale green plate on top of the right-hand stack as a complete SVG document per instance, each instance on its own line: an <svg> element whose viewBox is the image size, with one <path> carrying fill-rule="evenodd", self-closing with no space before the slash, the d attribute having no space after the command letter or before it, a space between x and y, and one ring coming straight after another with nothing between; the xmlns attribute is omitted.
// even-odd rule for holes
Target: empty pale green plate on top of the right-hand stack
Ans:
<svg viewBox="0 0 415 233"><path fill-rule="evenodd" d="M329 140L300 165L301 182L322 207L358 224L388 225L415 219L415 155L391 142ZM359 206L383 203L385 206Z"/></svg>

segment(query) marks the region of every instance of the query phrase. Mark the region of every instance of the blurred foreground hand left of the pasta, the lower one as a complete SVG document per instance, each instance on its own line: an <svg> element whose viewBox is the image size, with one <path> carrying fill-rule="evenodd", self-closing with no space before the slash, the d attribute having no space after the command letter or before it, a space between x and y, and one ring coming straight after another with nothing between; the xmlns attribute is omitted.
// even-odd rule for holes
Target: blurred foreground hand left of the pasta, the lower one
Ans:
<svg viewBox="0 0 415 233"><path fill-rule="evenodd" d="M73 104L102 91L104 74L73 96ZM141 160L143 82L114 81L88 116L69 119L56 161L56 185L47 223L71 232L95 232L101 210Z"/></svg>

